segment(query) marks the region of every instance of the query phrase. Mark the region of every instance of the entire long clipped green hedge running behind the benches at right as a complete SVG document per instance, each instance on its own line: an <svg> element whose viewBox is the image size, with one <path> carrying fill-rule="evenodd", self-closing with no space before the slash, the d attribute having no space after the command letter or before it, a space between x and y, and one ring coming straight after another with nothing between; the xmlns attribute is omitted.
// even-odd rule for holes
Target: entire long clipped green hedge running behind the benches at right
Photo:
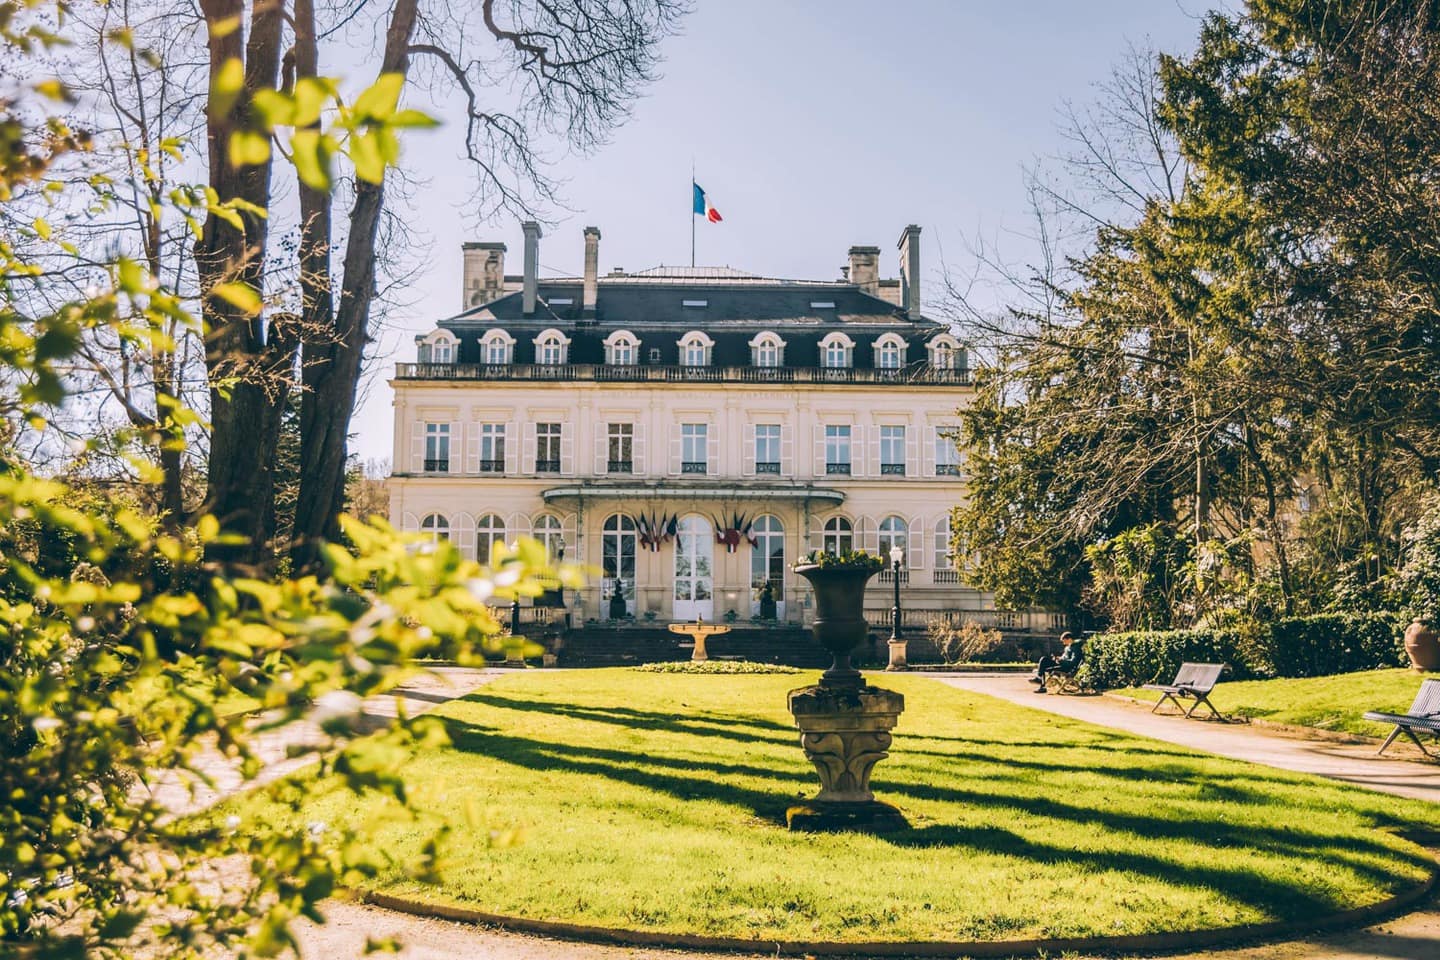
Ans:
<svg viewBox="0 0 1440 960"><path fill-rule="evenodd" d="M1253 630L1138 630L1090 639L1086 665L1102 688L1169 682L1184 662L1225 664L1224 679L1329 676L1404 666L1398 613L1323 613Z"/></svg>

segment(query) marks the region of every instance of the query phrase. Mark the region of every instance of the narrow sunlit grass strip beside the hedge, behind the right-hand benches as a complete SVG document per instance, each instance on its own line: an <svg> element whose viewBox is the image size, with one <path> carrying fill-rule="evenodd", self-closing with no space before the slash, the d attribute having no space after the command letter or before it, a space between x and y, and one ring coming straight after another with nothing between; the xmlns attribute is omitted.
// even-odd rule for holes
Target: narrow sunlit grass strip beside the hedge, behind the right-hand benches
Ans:
<svg viewBox="0 0 1440 960"><path fill-rule="evenodd" d="M1405 712L1423 679L1423 675L1411 669L1384 669L1299 679L1221 681L1210 699L1225 715L1384 737L1392 730L1390 724L1361 717L1367 710ZM1115 692L1148 701L1161 698L1152 689L1129 688ZM1200 712L1204 714L1205 708L1201 707Z"/></svg>

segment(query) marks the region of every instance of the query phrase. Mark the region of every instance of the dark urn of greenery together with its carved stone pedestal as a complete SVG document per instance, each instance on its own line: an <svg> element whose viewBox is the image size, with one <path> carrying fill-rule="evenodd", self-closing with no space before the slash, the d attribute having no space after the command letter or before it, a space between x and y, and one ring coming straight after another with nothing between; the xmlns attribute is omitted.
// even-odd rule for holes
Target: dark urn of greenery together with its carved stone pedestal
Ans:
<svg viewBox="0 0 1440 960"><path fill-rule="evenodd" d="M896 830L907 826L894 806L876 800L870 773L890 750L890 731L904 710L904 697L870 687L851 665L851 652L865 639L865 583L878 566L799 564L795 573L815 587L815 640L832 662L819 684L792 689L791 715L801 748L819 774L819 793L791 806L792 830Z"/></svg>

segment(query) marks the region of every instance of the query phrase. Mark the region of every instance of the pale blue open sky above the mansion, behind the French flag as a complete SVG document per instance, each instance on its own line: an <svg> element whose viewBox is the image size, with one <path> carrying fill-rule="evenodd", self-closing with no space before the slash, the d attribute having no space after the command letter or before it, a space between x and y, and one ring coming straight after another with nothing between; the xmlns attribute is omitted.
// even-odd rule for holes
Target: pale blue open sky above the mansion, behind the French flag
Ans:
<svg viewBox="0 0 1440 960"><path fill-rule="evenodd" d="M690 166L724 216L697 226L700 263L834 279L845 250L924 227L923 266L963 269L966 236L1027 253L1022 167L1060 148L1057 111L1087 101L1129 43L1185 52L1212 0L696 0L664 45L661 79L595 155L554 168L569 212L540 245L541 273L577 275L580 230L600 227L600 271L688 263ZM471 176L449 128L408 141L425 180L406 219L428 243L408 305L377 344L356 417L364 458L390 456L395 360L461 302L459 245L520 226L465 209ZM458 206L459 204L459 206Z"/></svg>

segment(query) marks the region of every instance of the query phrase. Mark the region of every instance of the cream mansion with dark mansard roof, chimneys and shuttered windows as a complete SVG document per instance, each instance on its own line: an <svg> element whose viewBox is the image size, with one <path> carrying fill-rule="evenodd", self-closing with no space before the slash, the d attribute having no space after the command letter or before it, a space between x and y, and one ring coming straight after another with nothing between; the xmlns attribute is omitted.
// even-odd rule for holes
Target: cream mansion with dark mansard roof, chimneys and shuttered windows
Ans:
<svg viewBox="0 0 1440 960"><path fill-rule="evenodd" d="M393 521L481 561L544 540L603 573L576 620L809 619L791 564L811 550L904 550L904 606L979 610L950 564L965 495L950 440L971 402L963 347L920 312L920 227L900 278L850 249L840 281L729 268L523 276L467 243L464 311L396 366ZM867 607L888 610L891 574ZM618 594L618 599L615 599Z"/></svg>

